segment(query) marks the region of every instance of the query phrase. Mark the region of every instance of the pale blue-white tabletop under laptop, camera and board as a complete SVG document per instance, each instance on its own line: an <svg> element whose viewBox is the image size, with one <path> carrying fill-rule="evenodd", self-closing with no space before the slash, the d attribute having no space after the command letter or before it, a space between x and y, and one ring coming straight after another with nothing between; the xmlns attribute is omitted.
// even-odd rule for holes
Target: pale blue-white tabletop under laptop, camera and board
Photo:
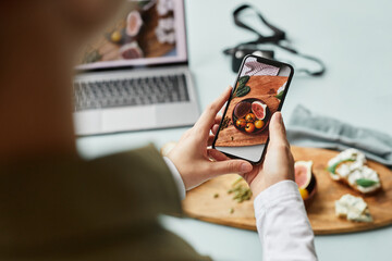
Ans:
<svg viewBox="0 0 392 261"><path fill-rule="evenodd" d="M328 66L326 75L319 78L294 76L283 107L286 122L295 105L303 104L314 112L392 135L391 1L247 2L286 30L299 51L317 55ZM254 39L250 33L235 27L232 22L232 11L241 3L238 0L186 1L191 69L200 108L206 108L235 79L231 60L222 50ZM259 25L255 16L247 21ZM184 130L84 137L77 140L77 146L82 154L94 158L147 142L160 147L177 140ZM255 232L192 219L162 217L162 222L215 260L261 260ZM364 233L317 236L316 248L320 260L391 260L391 241L390 226Z"/></svg>

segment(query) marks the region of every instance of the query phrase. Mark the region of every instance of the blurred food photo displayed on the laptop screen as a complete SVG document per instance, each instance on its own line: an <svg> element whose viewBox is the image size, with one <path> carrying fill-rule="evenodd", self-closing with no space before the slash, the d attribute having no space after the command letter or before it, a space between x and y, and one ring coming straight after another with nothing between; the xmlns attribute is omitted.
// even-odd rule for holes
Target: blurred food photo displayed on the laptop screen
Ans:
<svg viewBox="0 0 392 261"><path fill-rule="evenodd" d="M125 1L122 13L85 48L78 64L176 57L176 2Z"/></svg>

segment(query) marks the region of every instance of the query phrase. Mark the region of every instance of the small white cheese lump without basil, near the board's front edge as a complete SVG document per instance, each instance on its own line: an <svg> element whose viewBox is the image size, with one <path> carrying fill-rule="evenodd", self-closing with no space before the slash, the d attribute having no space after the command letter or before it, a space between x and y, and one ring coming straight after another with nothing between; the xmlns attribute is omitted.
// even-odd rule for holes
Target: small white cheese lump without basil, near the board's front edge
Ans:
<svg viewBox="0 0 392 261"><path fill-rule="evenodd" d="M335 201L336 216L346 217L356 222L372 222L372 217L367 208L367 203L360 197L353 195L343 195Z"/></svg>

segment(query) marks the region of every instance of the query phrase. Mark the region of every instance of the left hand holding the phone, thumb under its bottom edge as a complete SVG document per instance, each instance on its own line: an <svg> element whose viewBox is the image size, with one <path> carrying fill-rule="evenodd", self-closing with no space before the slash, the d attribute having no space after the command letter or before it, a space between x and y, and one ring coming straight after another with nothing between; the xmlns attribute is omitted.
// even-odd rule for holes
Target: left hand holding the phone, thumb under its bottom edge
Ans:
<svg viewBox="0 0 392 261"><path fill-rule="evenodd" d="M215 138L210 129L221 120L217 113L229 99L231 90L231 87L228 88L221 97L207 107L199 120L185 132L168 156L180 172L186 190L218 175L244 174L253 170L247 161L231 160L218 150L207 148L211 146ZM216 161L211 161L210 158Z"/></svg>

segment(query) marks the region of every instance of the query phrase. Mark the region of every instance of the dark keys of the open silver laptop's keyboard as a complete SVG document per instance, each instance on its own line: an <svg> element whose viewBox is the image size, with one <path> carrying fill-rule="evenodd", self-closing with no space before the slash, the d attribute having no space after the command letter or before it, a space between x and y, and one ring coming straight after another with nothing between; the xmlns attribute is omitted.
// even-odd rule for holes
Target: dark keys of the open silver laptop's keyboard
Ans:
<svg viewBox="0 0 392 261"><path fill-rule="evenodd" d="M74 83L75 111L189 101L185 75Z"/></svg>

